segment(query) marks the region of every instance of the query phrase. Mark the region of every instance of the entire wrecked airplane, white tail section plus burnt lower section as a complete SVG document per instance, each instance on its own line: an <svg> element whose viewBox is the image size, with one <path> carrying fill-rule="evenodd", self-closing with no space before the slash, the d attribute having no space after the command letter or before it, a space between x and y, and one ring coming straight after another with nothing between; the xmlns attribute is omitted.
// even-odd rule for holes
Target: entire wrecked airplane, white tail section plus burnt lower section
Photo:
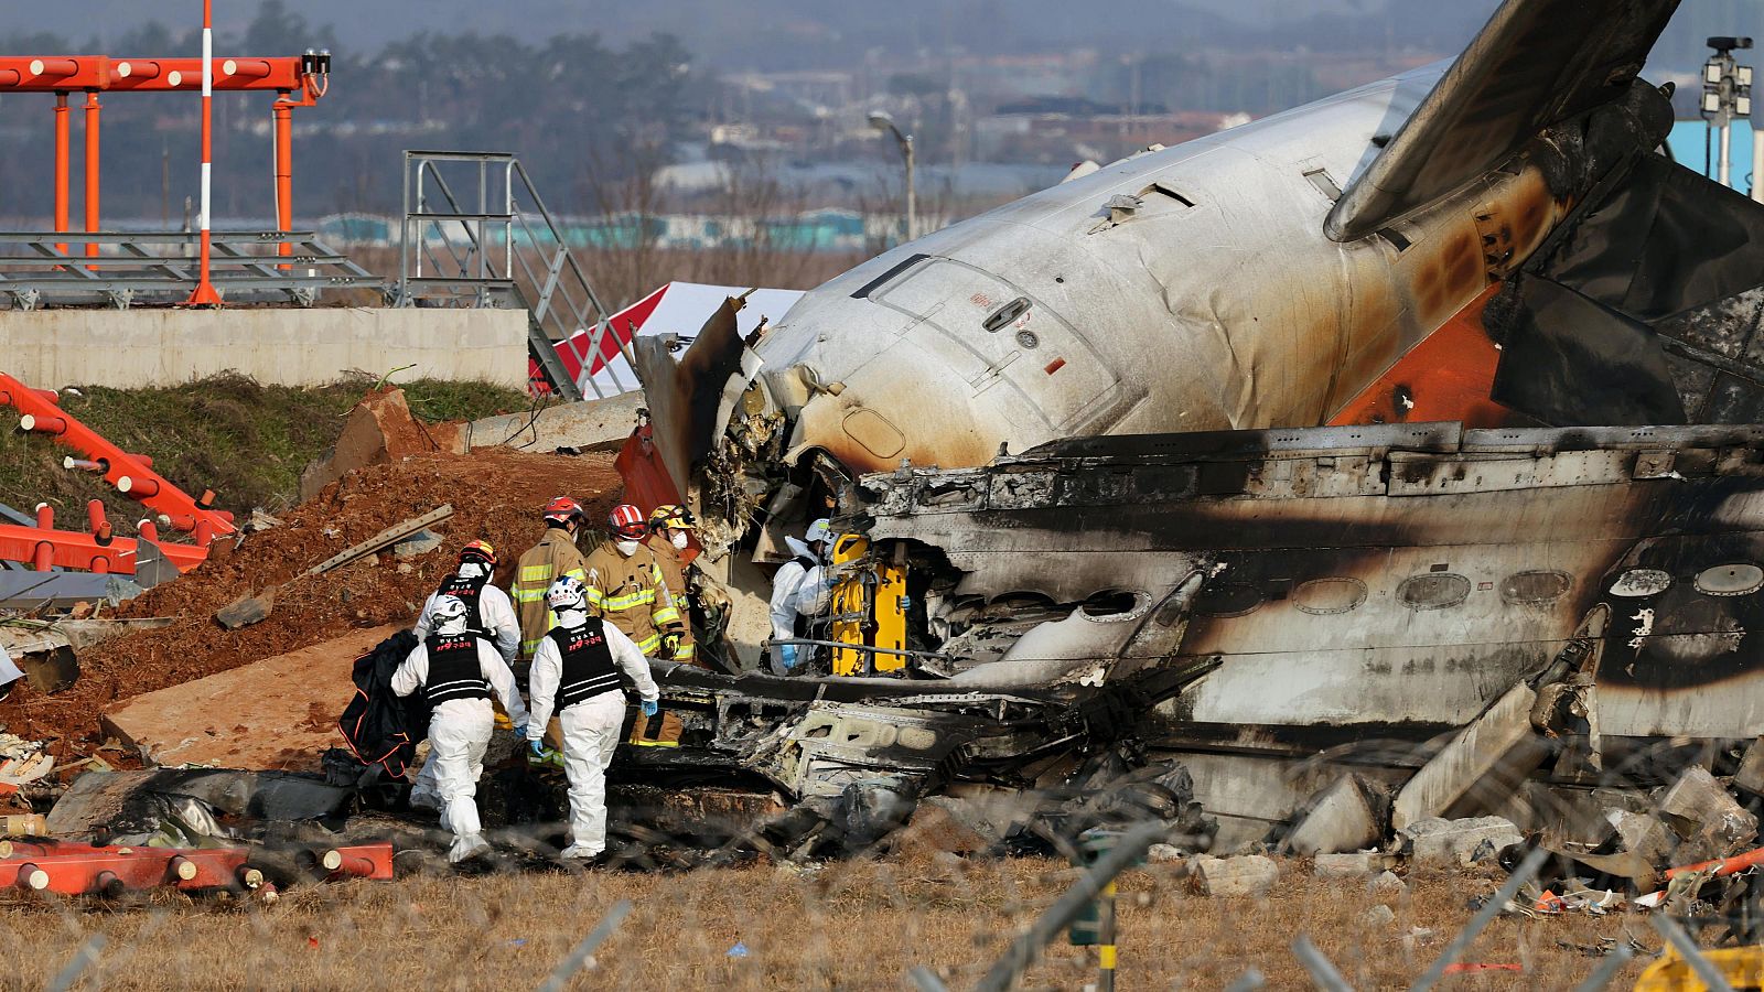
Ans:
<svg viewBox="0 0 1764 992"><path fill-rule="evenodd" d="M905 568L917 653L907 680L824 687L880 724L979 720L933 720L947 750L898 793L1071 785L1104 750L1164 750L1254 840L1342 763L1399 787L1519 685L1561 704L1521 710L1522 731L1586 741L1568 780L1628 738L1755 733L1760 434L1577 425L1759 406L1757 309L1732 304L1757 293L1764 221L1655 154L1671 92L1639 71L1676 0L1561 30L1582 9L1508 0L1450 67L901 245L748 341L730 311L677 364L640 346L732 653L751 664L760 639L753 565L833 510L868 563ZM1330 427L1401 420L1411 376L1441 371L1404 362L1450 327L1489 367L1475 395L1457 383L1475 417L1448 413L1503 431ZM1383 387L1394 402L1362 402ZM827 695L725 720L755 687L695 688L697 743L847 810L843 789L900 764L866 733L815 743ZM975 740L990 763L965 761ZM1392 740L1434 747L1364 750ZM1469 808L1424 778L1434 798L1402 810Z"/></svg>

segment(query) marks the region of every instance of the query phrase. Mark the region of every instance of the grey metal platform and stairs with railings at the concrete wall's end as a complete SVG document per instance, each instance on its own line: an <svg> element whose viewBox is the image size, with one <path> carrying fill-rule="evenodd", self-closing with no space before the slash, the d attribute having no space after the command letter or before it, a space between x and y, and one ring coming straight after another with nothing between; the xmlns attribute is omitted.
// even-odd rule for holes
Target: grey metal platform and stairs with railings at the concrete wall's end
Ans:
<svg viewBox="0 0 1764 992"><path fill-rule="evenodd" d="M630 388L616 376L605 383L589 376L591 357L603 355L612 332L610 312L519 157L404 152L399 258L399 305L524 307L527 351L557 397ZM580 332L586 348L573 341ZM559 348L572 349L580 376L568 372Z"/></svg>

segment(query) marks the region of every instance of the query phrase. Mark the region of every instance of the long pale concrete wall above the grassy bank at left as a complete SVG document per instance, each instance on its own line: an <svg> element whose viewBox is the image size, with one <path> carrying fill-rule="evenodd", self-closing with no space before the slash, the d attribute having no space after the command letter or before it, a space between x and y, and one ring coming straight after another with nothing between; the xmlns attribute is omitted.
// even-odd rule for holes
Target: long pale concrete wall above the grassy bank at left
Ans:
<svg viewBox="0 0 1764 992"><path fill-rule="evenodd" d="M228 369L321 385L360 369L527 383L526 311L236 309L5 311L0 371L37 388L176 385Z"/></svg>

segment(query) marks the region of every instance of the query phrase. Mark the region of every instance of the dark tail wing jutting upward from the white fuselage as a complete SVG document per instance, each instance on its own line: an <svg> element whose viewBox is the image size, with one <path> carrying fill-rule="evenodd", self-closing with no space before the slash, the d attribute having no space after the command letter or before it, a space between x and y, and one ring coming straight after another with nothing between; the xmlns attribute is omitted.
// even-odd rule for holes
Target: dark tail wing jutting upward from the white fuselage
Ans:
<svg viewBox="0 0 1764 992"><path fill-rule="evenodd" d="M1498 168L1540 131L1621 97L1679 0L1505 0L1330 210L1364 238Z"/></svg>

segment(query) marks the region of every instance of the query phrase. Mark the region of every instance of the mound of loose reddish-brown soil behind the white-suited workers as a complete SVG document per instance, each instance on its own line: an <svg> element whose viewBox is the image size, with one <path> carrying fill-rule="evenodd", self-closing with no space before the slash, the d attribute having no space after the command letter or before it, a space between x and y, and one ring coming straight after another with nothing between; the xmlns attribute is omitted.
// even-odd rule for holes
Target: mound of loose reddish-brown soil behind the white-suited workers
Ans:
<svg viewBox="0 0 1764 992"><path fill-rule="evenodd" d="M508 586L515 560L543 531L538 508L575 496L589 519L603 519L617 500L619 477L609 455L536 455L480 448L469 455L427 454L355 471L284 515L284 526L217 544L208 561L127 604L120 616L176 616L161 630L109 641L81 653L79 683L56 695L21 685L0 703L0 724L49 741L62 761L99 743L99 713L118 699L182 685L219 671L307 648L353 628L415 621L423 598L453 567L467 540L487 538L501 558L497 584ZM397 560L388 551L325 575L300 572L400 521L443 503L453 517L432 530L445 544ZM213 612L247 593L288 582L268 620L222 630ZM337 690L337 708L349 687Z"/></svg>

